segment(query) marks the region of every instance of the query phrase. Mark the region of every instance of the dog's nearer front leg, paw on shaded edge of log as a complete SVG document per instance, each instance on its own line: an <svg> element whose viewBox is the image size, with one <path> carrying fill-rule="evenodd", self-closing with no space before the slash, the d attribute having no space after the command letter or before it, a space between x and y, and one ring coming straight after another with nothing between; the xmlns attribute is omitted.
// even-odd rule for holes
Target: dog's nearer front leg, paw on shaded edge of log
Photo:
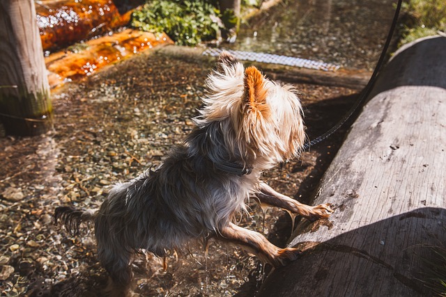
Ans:
<svg viewBox="0 0 446 297"><path fill-rule="evenodd" d="M259 232L246 230L233 223L221 227L218 231L218 239L241 246L263 262L268 262L275 267L284 266L300 255L300 250L296 248L278 248Z"/></svg>

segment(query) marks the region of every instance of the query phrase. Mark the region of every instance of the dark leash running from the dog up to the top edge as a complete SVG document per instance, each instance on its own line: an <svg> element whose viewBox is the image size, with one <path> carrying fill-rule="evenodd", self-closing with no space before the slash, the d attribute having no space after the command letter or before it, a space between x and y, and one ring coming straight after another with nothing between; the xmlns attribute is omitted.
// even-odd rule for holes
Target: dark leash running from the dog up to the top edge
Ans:
<svg viewBox="0 0 446 297"><path fill-rule="evenodd" d="M371 77L369 79L369 82L367 83L367 86L365 86L365 88L362 90L362 92L360 94L360 98L357 99L356 103L351 107L351 109L346 113L346 115L344 115L344 118L339 120L339 122L337 122L337 124L334 125L330 130L326 131L321 136L314 138L312 141L307 141L306 143L304 143L304 145L302 146L302 151L309 150L309 148L312 147L313 145L316 145L317 143L320 143L321 141L324 141L325 139L332 136L332 134L334 134L335 131L337 131L339 128L341 128L347 122L347 120L349 118L351 118L351 116L357 111L357 109L360 106L362 106L365 99L370 95L371 88L375 84L376 77L378 76L378 72L383 67L384 58L385 58L385 55L387 54L387 49L389 48L390 41L392 40L393 32L395 30L395 27L397 26L397 20L399 17L399 11L401 10L402 2L403 2L403 0L398 0L397 8L395 8L394 17L392 20L392 25L390 26L389 33L387 34L387 40L385 40L383 51L381 51L381 55L378 59L378 63L376 63L376 66L375 66L375 70L374 70L373 74L371 74Z"/></svg>

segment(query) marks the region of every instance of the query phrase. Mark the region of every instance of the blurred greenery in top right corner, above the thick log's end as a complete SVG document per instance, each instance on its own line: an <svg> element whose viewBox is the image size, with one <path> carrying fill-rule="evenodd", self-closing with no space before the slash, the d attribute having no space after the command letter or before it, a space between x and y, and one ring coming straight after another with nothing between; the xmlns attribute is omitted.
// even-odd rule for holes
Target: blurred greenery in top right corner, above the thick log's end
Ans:
<svg viewBox="0 0 446 297"><path fill-rule="evenodd" d="M438 31L446 31L446 6L444 0L410 0L402 6L403 28L401 45Z"/></svg>

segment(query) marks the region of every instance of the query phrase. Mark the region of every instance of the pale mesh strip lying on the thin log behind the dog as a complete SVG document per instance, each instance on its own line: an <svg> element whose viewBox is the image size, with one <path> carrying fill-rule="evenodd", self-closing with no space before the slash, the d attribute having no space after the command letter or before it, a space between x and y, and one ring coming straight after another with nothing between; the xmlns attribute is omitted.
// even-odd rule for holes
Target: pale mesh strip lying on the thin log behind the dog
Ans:
<svg viewBox="0 0 446 297"><path fill-rule="evenodd" d="M289 56L279 56L275 54L254 53L251 51L236 51L232 49L208 48L203 51L204 56L218 56L222 51L228 51L230 54L244 61L253 61L260 63L279 64L293 67L301 67L315 70L332 71L339 69L339 65L307 60L303 58L294 58Z"/></svg>

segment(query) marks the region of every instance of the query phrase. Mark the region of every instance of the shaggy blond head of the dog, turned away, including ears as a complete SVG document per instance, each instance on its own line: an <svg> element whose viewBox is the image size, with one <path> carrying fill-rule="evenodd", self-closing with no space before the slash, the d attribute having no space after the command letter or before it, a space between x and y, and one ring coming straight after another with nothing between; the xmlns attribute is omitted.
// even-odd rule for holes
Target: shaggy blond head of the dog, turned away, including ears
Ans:
<svg viewBox="0 0 446 297"><path fill-rule="evenodd" d="M231 151L265 169L300 152L305 131L292 86L266 79L254 66L245 69L227 52L206 83L209 94L195 120L201 128L220 122Z"/></svg>

